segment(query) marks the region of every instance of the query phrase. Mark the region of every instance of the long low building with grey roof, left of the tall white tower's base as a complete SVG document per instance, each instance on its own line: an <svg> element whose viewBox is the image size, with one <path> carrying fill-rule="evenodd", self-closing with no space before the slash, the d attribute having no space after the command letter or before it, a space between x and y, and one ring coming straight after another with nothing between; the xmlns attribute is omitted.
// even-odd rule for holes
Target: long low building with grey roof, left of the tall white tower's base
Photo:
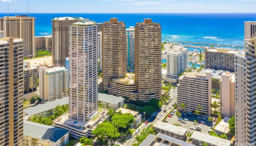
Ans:
<svg viewBox="0 0 256 146"><path fill-rule="evenodd" d="M63 97L61 99L56 99L53 101L47 101L44 104L38 104L34 107L29 107L24 110L24 117L29 116L28 119L34 116L50 116L54 114L54 108L57 105L68 105L68 97Z"/></svg>

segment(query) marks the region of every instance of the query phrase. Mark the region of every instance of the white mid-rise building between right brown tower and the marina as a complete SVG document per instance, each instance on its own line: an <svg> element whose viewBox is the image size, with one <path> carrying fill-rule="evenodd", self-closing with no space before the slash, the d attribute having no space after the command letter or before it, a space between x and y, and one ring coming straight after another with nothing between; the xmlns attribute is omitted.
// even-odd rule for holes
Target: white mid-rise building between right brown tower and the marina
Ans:
<svg viewBox="0 0 256 146"><path fill-rule="evenodd" d="M188 68L188 49L173 46L167 53L167 73L163 80L177 84L178 75Z"/></svg>

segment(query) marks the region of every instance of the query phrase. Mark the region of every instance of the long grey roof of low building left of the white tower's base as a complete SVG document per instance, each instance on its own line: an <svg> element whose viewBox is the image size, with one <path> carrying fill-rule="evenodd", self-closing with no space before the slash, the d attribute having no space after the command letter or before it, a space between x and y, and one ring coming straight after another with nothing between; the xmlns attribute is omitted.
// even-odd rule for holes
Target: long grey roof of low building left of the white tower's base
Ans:
<svg viewBox="0 0 256 146"><path fill-rule="evenodd" d="M55 108L57 105L64 105L64 104L68 104L68 97L63 97L61 99L55 99L53 101L47 101L44 104L38 104L34 107L26 108L24 110L24 112L27 115L31 116L31 115L38 114L40 112L51 110L51 109Z"/></svg>

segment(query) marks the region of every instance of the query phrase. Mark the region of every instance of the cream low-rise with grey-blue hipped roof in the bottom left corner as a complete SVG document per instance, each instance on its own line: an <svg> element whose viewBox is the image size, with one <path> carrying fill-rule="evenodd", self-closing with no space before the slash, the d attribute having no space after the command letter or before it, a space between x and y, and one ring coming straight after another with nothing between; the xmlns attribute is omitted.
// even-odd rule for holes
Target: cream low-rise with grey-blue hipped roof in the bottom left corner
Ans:
<svg viewBox="0 0 256 146"><path fill-rule="evenodd" d="M24 146L65 146L68 130L44 124L23 121Z"/></svg>

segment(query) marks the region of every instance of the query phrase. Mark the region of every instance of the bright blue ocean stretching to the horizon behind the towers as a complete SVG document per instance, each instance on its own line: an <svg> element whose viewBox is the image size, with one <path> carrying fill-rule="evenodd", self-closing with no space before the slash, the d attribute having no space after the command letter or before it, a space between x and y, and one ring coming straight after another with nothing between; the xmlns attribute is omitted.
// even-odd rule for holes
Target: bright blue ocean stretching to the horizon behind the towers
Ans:
<svg viewBox="0 0 256 146"><path fill-rule="evenodd" d="M27 15L9 13L9 16ZM7 13L0 13L0 17ZM162 42L182 41L223 45L244 45L244 22L256 21L255 13L30 13L35 20L35 36L52 34L55 17L77 16L98 23L118 18L126 27L151 18L162 27Z"/></svg>

